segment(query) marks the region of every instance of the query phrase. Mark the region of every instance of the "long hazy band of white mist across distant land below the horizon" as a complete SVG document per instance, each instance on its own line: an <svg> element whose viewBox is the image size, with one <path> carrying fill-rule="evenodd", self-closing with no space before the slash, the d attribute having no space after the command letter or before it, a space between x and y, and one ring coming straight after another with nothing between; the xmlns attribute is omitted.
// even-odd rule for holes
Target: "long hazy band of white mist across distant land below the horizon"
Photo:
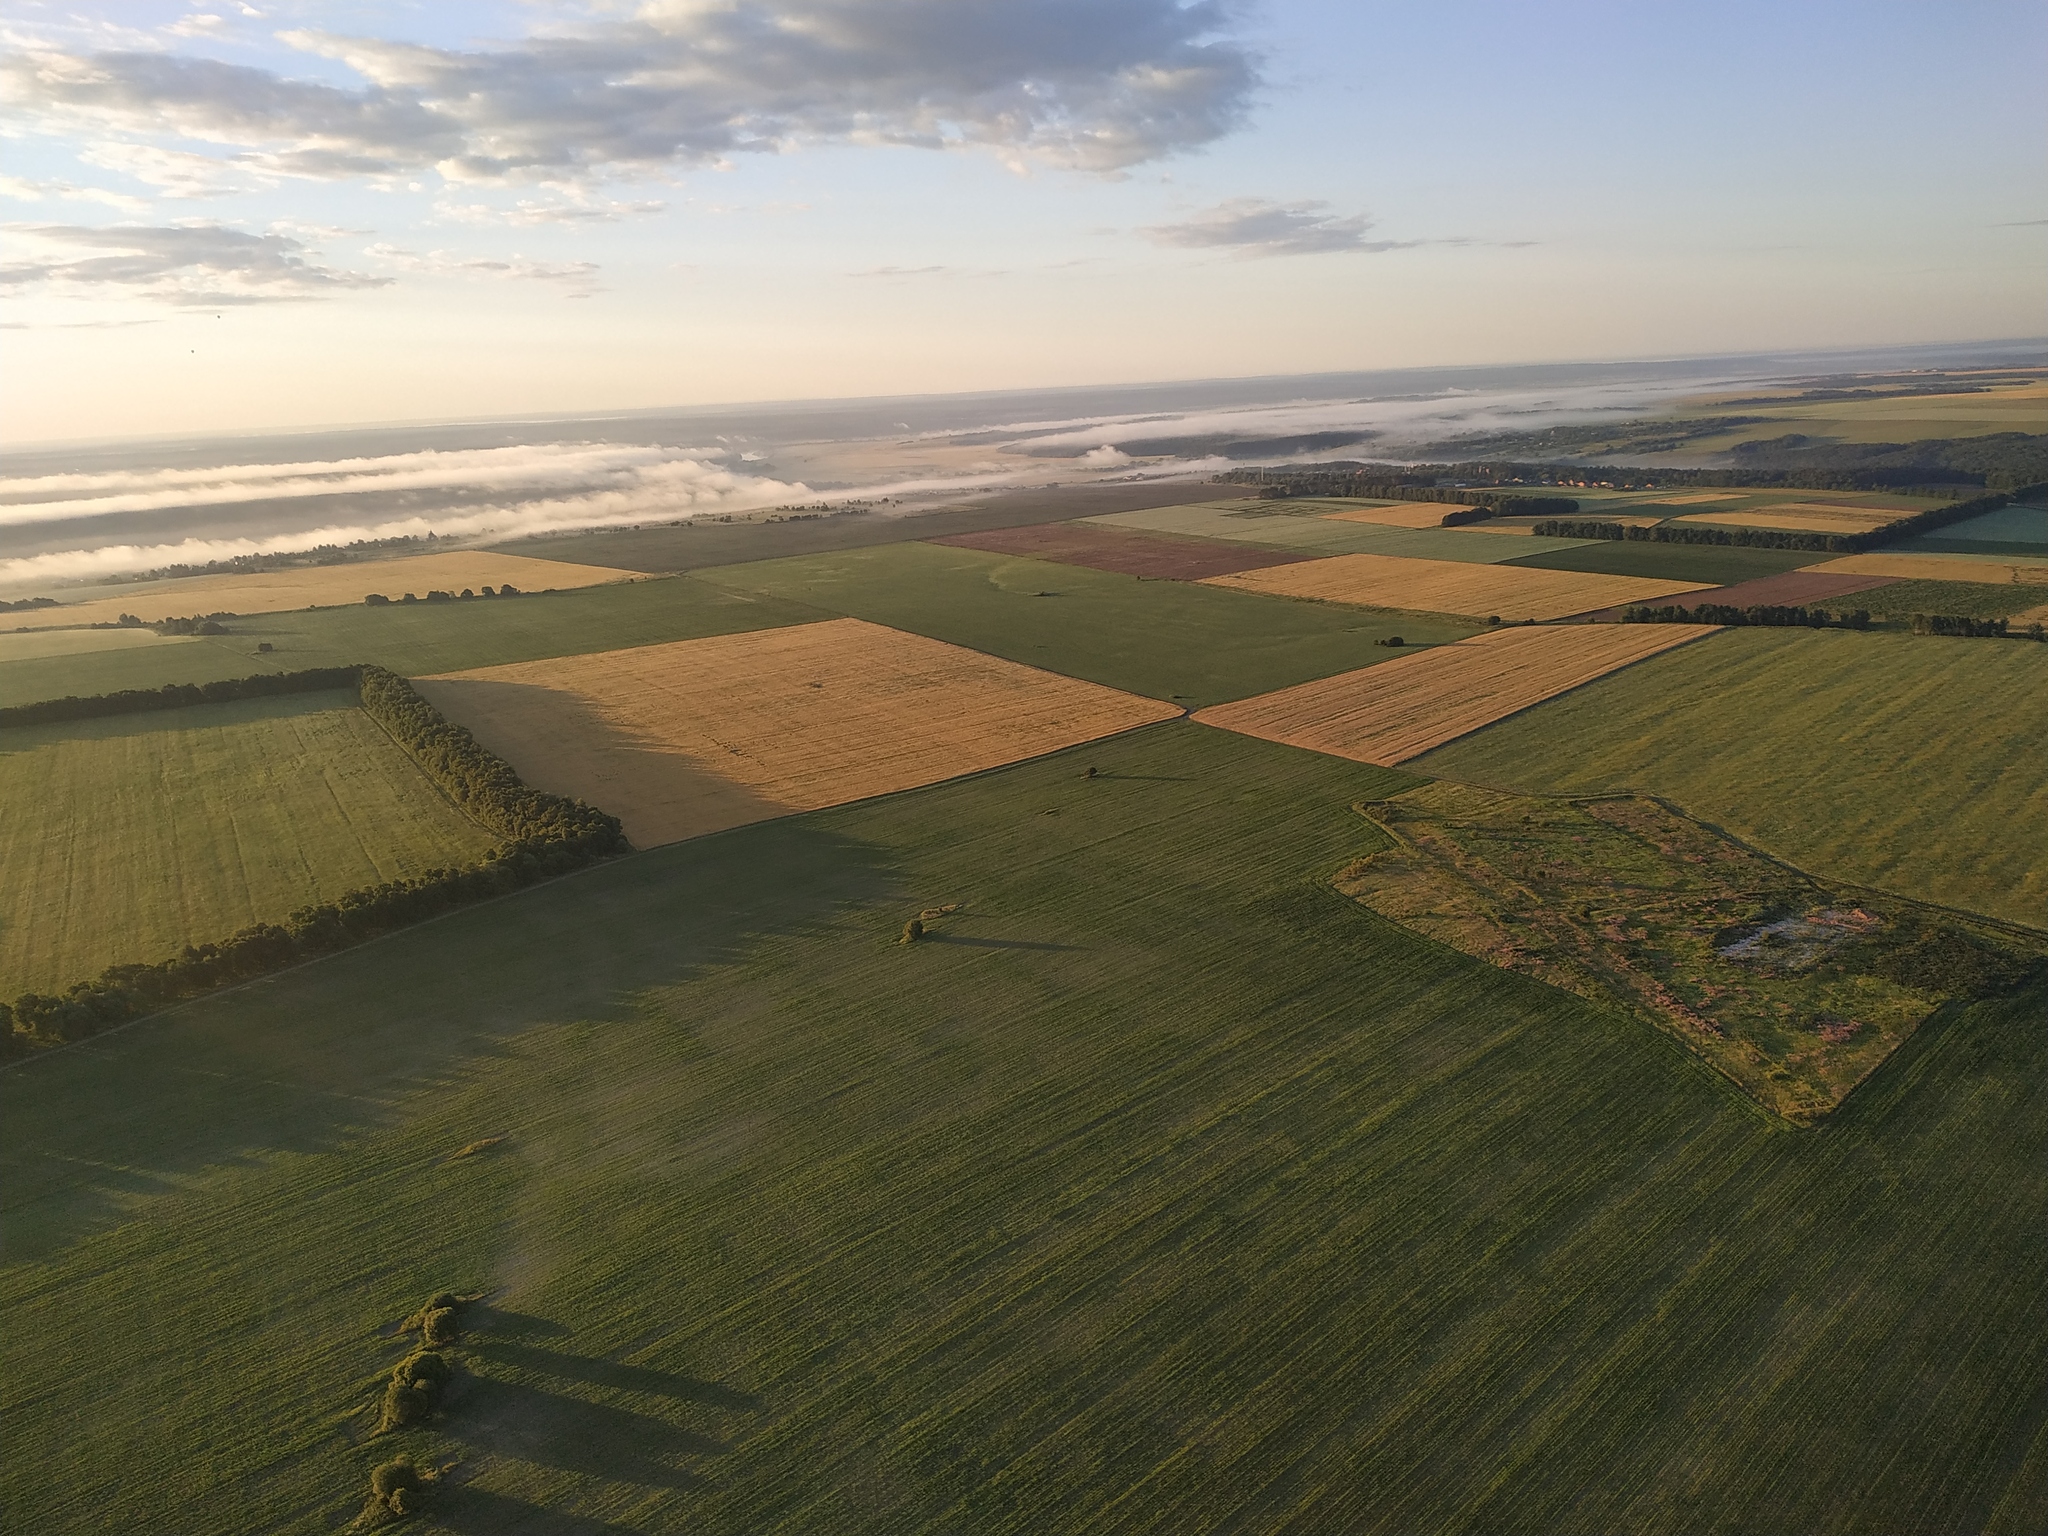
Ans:
<svg viewBox="0 0 2048 1536"><path fill-rule="evenodd" d="M1690 358L918 395L49 446L0 457L0 584L31 588L373 539L518 539L774 506L1204 477L1427 455L1688 395L1960 350ZM1995 348L1993 348L1995 350ZM891 510L891 508L885 508Z"/></svg>

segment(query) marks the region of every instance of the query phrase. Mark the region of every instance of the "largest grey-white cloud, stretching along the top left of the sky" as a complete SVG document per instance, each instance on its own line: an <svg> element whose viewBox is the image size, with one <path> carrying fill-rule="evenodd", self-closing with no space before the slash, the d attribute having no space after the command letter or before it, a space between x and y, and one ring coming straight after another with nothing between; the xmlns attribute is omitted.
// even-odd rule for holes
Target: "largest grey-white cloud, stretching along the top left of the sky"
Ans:
<svg viewBox="0 0 2048 1536"><path fill-rule="evenodd" d="M1221 0L674 0L440 49L281 33L362 88L147 49L0 57L51 127L229 145L279 176L571 182L807 143L985 147L1114 172L1239 125Z"/></svg>

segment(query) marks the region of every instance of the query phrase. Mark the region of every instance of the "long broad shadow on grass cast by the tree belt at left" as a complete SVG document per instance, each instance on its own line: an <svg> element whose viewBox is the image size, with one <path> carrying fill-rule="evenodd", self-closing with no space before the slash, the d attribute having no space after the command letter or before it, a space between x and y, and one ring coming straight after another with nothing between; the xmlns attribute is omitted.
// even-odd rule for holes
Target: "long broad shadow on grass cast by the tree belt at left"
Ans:
<svg viewBox="0 0 2048 1536"><path fill-rule="evenodd" d="M784 817L582 870L0 1073L8 1262L133 1219L203 1169L328 1153L453 1090L532 1026L901 901L895 856ZM401 999L403 1006L393 1006ZM137 1106L152 1106L137 1114ZM453 1149L451 1149L453 1151Z"/></svg>

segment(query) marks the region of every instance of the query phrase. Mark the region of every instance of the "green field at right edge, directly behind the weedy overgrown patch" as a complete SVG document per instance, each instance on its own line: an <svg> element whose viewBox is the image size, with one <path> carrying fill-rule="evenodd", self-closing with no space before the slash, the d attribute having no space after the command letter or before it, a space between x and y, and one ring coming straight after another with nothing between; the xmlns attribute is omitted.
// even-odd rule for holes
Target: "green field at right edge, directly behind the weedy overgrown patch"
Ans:
<svg viewBox="0 0 2048 1536"><path fill-rule="evenodd" d="M2048 926L2044 690L2048 645L1733 629L1409 768L1649 791L1815 874Z"/></svg>

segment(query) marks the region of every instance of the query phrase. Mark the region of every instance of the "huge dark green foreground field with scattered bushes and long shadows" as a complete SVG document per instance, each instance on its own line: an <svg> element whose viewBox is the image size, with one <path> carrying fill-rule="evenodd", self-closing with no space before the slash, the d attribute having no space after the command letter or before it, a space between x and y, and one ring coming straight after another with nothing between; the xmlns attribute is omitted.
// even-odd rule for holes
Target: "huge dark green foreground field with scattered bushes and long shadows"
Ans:
<svg viewBox="0 0 2048 1536"><path fill-rule="evenodd" d="M1153 727L0 1075L12 1524L2038 1530L2048 997L1774 1130L1337 897L1399 782Z"/></svg>

